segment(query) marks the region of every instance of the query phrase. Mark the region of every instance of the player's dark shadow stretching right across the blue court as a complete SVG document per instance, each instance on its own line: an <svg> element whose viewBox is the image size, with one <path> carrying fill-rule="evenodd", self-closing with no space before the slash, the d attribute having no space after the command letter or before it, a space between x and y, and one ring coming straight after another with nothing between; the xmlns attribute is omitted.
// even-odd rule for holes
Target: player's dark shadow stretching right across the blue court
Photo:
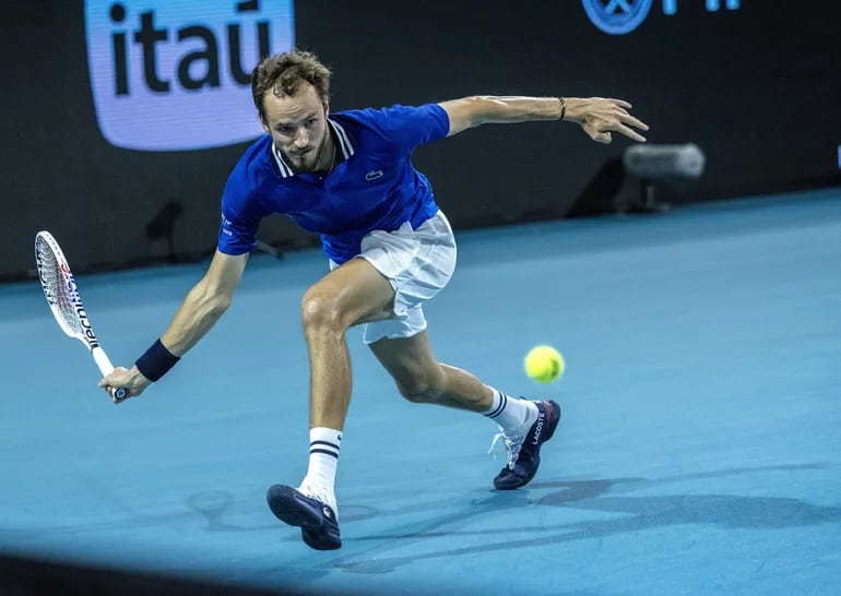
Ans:
<svg viewBox="0 0 841 596"><path fill-rule="evenodd" d="M547 546L576 540L608 538L621 534L683 524L712 525L724 528L778 529L838 523L841 521L841 506L814 505L799 499L782 497L741 497L732 494L635 497L623 494L623 492L670 484L679 479L725 476L745 472L756 470L724 470L718 474L686 475L656 481L641 478L621 478L612 480L535 482L529 491L514 491L513 494L495 493L487 499L474 503L466 510L418 524L414 532L370 536L366 540L376 540L379 543L378 546L366 549L364 552L341 558L333 563L333 567L356 573L388 573L398 567L419 559L458 558L462 555L476 555L497 550L508 551L518 547L529 548L534 546L536 537L540 538L542 546ZM552 489L553 491L540 497L534 496L540 489ZM581 521L555 526L535 525L531 527L478 531L458 529L460 526L467 525L482 515L486 515L489 510L529 505L557 506L623 515L613 520ZM405 540L414 541L430 536L453 534L460 536L481 535L484 537L479 538L479 544L461 548L425 553L415 552L406 557L381 557L383 552L389 550L393 541L399 541L400 546L404 547ZM502 535L502 537L498 540L488 539L493 535ZM386 548L383 548L383 541L386 543ZM366 555L371 555L372 557L368 558Z"/></svg>

